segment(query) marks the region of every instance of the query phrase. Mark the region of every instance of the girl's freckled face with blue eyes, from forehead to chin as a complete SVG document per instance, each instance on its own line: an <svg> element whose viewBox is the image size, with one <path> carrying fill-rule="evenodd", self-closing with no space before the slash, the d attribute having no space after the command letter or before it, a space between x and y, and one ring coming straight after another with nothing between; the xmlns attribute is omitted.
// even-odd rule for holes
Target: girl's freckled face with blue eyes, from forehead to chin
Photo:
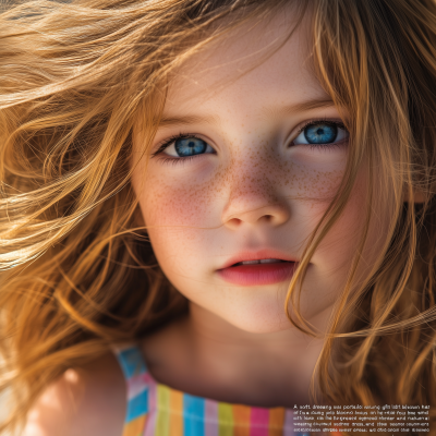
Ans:
<svg viewBox="0 0 436 436"><path fill-rule="evenodd" d="M262 29L247 24L186 62L148 167L142 159L133 177L168 279L197 308L252 332L289 328L283 303L294 264L223 268L258 257L298 262L347 161L348 133L310 69L307 26L265 59L291 25L290 13ZM138 154L142 146L137 129ZM308 266L301 300L308 320L329 313L344 284L362 187L361 177Z"/></svg>

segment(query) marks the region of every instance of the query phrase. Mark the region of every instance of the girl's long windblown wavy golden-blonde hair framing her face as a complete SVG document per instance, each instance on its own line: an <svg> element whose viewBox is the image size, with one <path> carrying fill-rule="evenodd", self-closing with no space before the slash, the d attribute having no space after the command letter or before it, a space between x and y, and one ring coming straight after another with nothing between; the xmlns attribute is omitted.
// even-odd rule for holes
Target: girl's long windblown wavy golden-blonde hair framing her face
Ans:
<svg viewBox="0 0 436 436"><path fill-rule="evenodd" d="M316 335L299 313L299 284L365 162L366 225L316 379L335 404L436 405L434 1L37 0L0 15L0 389L16 405L0 432L23 423L66 368L185 313L141 222L133 128L141 120L146 154L171 72L230 27L288 3L300 19L311 13L314 72L347 110L351 145L286 310L292 303L290 320ZM356 283L386 203L384 247Z"/></svg>

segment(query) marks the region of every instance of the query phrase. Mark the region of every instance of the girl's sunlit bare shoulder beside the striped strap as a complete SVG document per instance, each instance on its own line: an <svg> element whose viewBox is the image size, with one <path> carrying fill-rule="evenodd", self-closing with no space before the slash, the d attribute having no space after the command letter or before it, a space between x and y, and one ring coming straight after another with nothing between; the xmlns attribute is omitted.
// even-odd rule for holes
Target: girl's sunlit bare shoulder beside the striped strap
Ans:
<svg viewBox="0 0 436 436"><path fill-rule="evenodd" d="M121 436L126 388L113 354L71 368L40 396L23 436Z"/></svg>

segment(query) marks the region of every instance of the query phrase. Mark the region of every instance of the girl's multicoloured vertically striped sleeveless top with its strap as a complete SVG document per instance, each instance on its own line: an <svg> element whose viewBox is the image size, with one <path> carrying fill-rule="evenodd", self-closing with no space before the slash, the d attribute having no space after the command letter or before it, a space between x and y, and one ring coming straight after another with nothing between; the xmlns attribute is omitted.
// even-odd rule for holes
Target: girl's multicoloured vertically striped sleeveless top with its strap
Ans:
<svg viewBox="0 0 436 436"><path fill-rule="evenodd" d="M219 402L153 379L138 347L114 349L128 387L122 436L308 436L294 432L293 411Z"/></svg>

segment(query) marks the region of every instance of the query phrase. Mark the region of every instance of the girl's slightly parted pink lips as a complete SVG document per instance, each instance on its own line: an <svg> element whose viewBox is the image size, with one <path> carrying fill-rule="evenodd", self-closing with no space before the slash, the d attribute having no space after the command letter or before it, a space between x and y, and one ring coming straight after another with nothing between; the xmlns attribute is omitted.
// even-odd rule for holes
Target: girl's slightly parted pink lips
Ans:
<svg viewBox="0 0 436 436"><path fill-rule="evenodd" d="M234 266L234 264L243 261L259 261L265 258L277 258L287 262ZM230 258L217 272L221 279L232 284L272 284L290 280L296 265L296 261L286 254L272 250L261 250L251 253L239 253L237 256Z"/></svg>

